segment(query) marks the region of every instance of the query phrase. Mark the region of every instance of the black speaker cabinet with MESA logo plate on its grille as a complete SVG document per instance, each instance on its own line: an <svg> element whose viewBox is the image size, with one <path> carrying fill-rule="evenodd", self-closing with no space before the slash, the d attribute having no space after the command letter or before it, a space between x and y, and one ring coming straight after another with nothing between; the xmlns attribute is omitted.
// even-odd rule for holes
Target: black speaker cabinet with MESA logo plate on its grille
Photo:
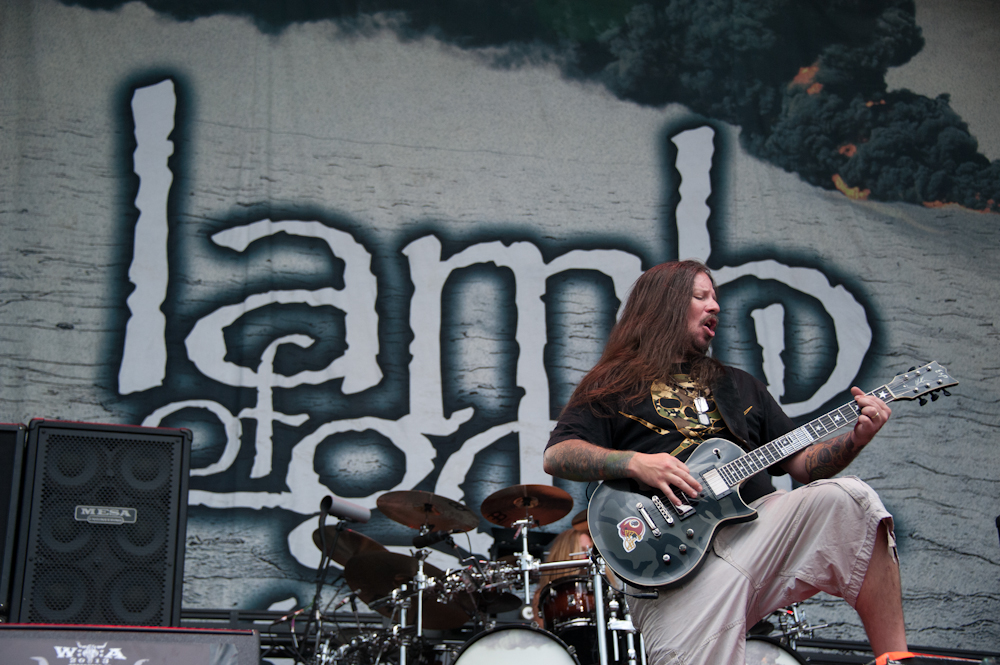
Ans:
<svg viewBox="0 0 1000 665"><path fill-rule="evenodd" d="M33 420L15 623L177 626L191 433Z"/></svg>

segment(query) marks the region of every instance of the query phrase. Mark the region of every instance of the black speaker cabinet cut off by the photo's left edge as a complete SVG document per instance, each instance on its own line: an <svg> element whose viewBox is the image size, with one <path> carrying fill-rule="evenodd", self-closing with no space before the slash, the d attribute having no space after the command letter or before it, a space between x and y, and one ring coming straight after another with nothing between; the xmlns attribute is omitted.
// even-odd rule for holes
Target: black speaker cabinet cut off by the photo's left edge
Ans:
<svg viewBox="0 0 1000 665"><path fill-rule="evenodd" d="M0 618L10 615L10 579L14 572L14 544L17 516L21 508L21 480L24 464L24 425L0 423Z"/></svg>

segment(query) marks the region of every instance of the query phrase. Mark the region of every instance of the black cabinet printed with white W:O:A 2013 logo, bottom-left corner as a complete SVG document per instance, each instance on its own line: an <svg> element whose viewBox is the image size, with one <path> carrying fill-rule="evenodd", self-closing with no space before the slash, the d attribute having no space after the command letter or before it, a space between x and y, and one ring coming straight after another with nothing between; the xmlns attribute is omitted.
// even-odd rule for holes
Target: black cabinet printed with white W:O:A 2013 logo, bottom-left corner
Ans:
<svg viewBox="0 0 1000 665"><path fill-rule="evenodd" d="M259 665L254 630L0 624L4 663Z"/></svg>

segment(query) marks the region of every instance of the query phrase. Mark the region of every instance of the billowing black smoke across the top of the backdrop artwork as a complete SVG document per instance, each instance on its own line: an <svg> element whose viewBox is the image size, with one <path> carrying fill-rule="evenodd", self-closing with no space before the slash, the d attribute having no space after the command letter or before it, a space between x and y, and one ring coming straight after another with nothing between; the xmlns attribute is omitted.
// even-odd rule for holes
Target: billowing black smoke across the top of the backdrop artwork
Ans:
<svg viewBox="0 0 1000 665"><path fill-rule="evenodd" d="M110 9L122 0L64 0ZM1000 161L947 95L889 91L923 47L912 0L145 0L187 21L247 16L266 33L375 24L479 50L496 66L557 62L622 99L684 104L741 128L760 159L848 196L1000 212Z"/></svg>

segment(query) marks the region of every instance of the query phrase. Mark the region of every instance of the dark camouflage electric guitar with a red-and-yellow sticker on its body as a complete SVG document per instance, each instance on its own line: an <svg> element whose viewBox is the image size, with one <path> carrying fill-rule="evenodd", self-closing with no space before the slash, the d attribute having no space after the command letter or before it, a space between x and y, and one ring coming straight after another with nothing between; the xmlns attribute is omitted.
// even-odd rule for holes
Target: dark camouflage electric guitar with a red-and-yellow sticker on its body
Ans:
<svg viewBox="0 0 1000 665"><path fill-rule="evenodd" d="M870 392L889 403L937 399L938 391L958 381L936 362L899 374ZM824 439L858 419L855 402L834 409L749 453L724 439L709 439L685 462L701 483L697 498L676 490L680 506L659 490L635 480L608 480L590 498L587 524L598 552L623 580L637 587L672 587L694 575L716 532L727 524L756 519L740 499L739 486L750 476Z"/></svg>

